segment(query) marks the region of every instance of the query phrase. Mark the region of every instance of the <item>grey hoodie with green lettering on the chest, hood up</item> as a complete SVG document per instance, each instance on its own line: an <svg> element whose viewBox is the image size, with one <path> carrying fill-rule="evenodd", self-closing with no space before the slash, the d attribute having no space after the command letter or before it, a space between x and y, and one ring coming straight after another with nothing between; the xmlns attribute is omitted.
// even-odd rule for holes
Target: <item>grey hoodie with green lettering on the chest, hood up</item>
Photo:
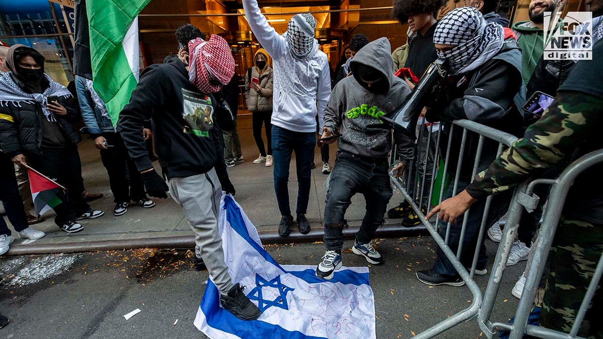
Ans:
<svg viewBox="0 0 603 339"><path fill-rule="evenodd" d="M383 158L391 151L391 128L379 120L403 103L411 90L402 79L394 77L394 60L390 42L382 37L368 43L354 55L352 64L364 64L380 71L389 91L377 94L361 86L354 77L339 81L324 109L324 125L341 133L339 150L362 157ZM351 67L352 72L356 69ZM394 133L400 160L408 165L414 142Z"/></svg>

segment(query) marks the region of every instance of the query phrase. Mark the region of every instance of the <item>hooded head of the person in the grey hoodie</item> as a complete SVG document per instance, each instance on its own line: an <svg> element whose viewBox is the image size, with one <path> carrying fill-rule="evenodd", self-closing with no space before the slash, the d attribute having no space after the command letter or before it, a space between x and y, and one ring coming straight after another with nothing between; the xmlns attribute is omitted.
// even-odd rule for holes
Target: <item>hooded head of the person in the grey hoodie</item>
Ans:
<svg viewBox="0 0 603 339"><path fill-rule="evenodd" d="M362 47L350 62L352 75L369 92L389 92L394 81L394 60L390 51L390 42L382 37Z"/></svg>

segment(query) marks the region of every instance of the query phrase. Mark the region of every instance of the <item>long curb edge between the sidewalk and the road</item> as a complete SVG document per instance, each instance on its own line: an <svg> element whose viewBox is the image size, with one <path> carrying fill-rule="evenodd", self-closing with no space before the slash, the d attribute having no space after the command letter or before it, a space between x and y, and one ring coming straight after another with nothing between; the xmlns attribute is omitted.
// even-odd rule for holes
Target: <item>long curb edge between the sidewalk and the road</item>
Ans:
<svg viewBox="0 0 603 339"><path fill-rule="evenodd" d="M343 230L346 240L353 239L359 227L350 227ZM295 231L295 229L293 229ZM384 225L375 232L375 238L399 238L403 236L428 235L425 226L403 227L399 225ZM295 232L286 238L279 236L276 230L259 232L262 244L291 244L323 241L323 229L313 229L303 235ZM52 253L79 253L109 250L130 249L193 249L195 237L192 235L165 236L162 238L139 238L99 241L66 242L63 244L31 244L12 246L5 255L45 255Z"/></svg>

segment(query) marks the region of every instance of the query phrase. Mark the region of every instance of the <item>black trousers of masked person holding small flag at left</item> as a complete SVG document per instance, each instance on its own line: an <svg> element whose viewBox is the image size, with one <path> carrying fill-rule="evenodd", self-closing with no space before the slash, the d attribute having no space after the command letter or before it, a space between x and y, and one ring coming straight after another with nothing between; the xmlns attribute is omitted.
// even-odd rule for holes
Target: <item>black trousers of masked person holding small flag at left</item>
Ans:
<svg viewBox="0 0 603 339"><path fill-rule="evenodd" d="M84 191L84 182L81 179L81 161L77 145L68 145L60 148L42 147L42 155L27 154L31 167L59 185L65 186L67 194L60 192L58 198L63 203L55 206L57 217L54 223L58 226L72 221L76 216L84 214L90 205L83 200L81 192Z"/></svg>

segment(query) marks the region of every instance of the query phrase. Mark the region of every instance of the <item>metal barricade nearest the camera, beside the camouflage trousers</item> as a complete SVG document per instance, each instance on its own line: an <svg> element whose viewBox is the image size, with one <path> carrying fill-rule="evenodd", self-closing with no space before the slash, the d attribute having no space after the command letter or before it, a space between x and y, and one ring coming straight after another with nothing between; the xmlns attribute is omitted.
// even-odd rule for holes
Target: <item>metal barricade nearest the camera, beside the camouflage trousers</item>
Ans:
<svg viewBox="0 0 603 339"><path fill-rule="evenodd" d="M560 223L561 211L567 198L572 183L582 172L587 170L590 166L596 165L603 162L603 150L593 151L592 153L586 154L571 163L567 168L560 174L556 180L548 179L537 179L529 183L525 188L525 191L520 192L516 199L513 200L510 210L510 217L519 220L521 215L522 206L526 206L526 209L530 209L534 202L537 201L537 197L532 195L532 190L535 185L551 185L552 190L548 199L548 206L545 211L545 215L540 226L540 232L538 233L537 239L532 244L534 253L532 255L531 262L528 263L529 274L526 276L526 283L523 290L522 297L517 306L513 324L500 323L489 321L491 312L494 306L494 300L500 287L500 280L502 278L502 271L505 268L505 262L507 261L508 251L505 253L503 246L499 247L494 260L494 272L488 281L488 287L484 293L484 302L479 310L478 323L488 338L493 337L497 330L504 329L510 331L510 339L522 338L524 334L532 335L539 338L581 338L578 337L578 331L581 328L582 321L586 315L587 309L595 296L595 291L601 282L601 276L603 274L603 253L599 258L598 264L590 280L590 285L586 291L578 313L576 314L575 322L569 332L563 333L554 331L552 329L543 328L541 326L527 325L528 316L534 304L535 294L537 292L538 284L543 276L545 270L545 263L551 250L552 242L555 236L555 230L557 225ZM513 241L513 235L517 232L519 225L516 222L511 222L505 227L502 241L507 244L509 241Z"/></svg>

